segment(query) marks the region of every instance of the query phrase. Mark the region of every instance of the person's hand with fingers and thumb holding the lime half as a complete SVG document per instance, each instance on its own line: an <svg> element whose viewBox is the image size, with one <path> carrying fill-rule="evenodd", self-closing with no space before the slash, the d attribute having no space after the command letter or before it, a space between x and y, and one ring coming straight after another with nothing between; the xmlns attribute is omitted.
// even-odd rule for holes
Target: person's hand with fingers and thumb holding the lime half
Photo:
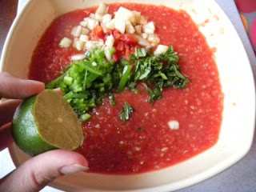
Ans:
<svg viewBox="0 0 256 192"><path fill-rule="evenodd" d="M42 82L14 78L0 72L0 98L14 98L0 103L0 150L14 142L11 121L22 98L38 94L45 89ZM51 150L24 162L0 180L0 191L38 191L64 174L74 174L88 169L81 154L67 150Z"/></svg>

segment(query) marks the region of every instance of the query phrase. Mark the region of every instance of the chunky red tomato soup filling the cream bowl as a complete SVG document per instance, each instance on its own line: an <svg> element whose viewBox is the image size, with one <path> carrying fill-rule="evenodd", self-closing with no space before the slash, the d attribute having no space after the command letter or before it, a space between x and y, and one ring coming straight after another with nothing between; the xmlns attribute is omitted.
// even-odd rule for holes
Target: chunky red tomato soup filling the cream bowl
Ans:
<svg viewBox="0 0 256 192"><path fill-rule="evenodd" d="M139 24L126 21L125 31L122 31L122 25L111 26L114 12L120 7L136 10L137 16L141 17ZM130 14L129 11L120 12ZM97 13L103 18L98 19ZM117 21L118 14L115 16ZM93 26L88 26L89 22L84 18L92 18ZM104 29L100 23L104 19L110 29ZM87 26L81 21L88 22ZM132 28L127 26L130 24ZM82 26L80 29L79 25ZM78 30L80 36L75 34ZM138 38L138 34L147 42ZM218 68L206 38L183 10L114 3L107 5L105 10L94 7L64 14L51 23L38 42L30 66L30 79L45 83L53 81L70 65L74 55L74 58L84 58L82 55L90 50L91 43L88 42L100 39L103 46L108 46L107 36L114 38L111 47L114 51L110 54L114 62L121 58L129 62L130 54L143 47L163 54L166 46L173 46L178 53L180 70L189 82L183 89L163 88L162 98L152 103L148 102L148 90L138 81L137 93L129 89L116 91L113 93L115 105L111 105L110 98L105 97L101 105L86 111L90 116L83 123L86 140L78 153L88 160L90 172L136 174L159 170L192 158L218 142L223 110ZM63 38L69 41L65 42ZM164 49L158 49L158 45L163 45ZM96 66L95 63L92 65ZM68 83L71 80L66 78ZM133 110L129 119L122 121L120 111L126 103Z"/></svg>

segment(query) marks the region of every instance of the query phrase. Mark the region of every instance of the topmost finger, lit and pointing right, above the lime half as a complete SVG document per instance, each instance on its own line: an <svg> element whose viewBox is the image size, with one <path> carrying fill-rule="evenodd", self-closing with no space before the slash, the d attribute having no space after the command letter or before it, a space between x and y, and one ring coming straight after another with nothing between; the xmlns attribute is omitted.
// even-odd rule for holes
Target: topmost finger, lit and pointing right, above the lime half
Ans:
<svg viewBox="0 0 256 192"><path fill-rule="evenodd" d="M15 78L0 72L0 97L2 98L27 98L44 89L45 85L42 82Z"/></svg>

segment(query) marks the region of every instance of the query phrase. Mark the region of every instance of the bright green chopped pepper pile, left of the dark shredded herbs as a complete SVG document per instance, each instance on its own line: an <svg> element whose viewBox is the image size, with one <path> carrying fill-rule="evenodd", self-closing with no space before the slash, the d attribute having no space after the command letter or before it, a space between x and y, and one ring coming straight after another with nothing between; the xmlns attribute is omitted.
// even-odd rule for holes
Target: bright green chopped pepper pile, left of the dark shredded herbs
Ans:
<svg viewBox="0 0 256 192"><path fill-rule="evenodd" d="M114 62L108 62L101 50L87 52L87 58L73 62L59 78L46 85L48 89L59 87L64 98L73 107L82 122L87 111L102 103L108 92L112 91L112 71ZM93 63L97 65L93 65ZM119 79L118 79L119 82Z"/></svg>

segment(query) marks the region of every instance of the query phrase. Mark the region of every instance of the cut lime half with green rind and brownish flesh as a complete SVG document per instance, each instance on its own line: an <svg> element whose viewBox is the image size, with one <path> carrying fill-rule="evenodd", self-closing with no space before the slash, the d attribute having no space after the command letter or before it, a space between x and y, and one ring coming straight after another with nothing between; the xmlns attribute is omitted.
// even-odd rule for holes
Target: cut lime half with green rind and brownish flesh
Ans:
<svg viewBox="0 0 256 192"><path fill-rule="evenodd" d="M54 90L44 90L18 106L12 134L17 146L30 156L54 149L76 150L84 141L77 115Z"/></svg>

